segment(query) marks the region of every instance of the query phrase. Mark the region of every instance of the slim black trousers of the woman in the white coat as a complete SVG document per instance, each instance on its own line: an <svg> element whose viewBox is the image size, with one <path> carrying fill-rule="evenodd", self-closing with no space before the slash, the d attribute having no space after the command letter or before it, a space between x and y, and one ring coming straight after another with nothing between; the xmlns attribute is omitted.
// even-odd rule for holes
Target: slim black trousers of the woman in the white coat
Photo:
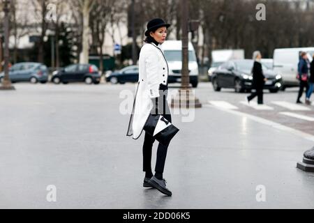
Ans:
<svg viewBox="0 0 314 223"><path fill-rule="evenodd" d="M161 90L160 96L163 97L163 111L158 111L158 114L163 114L167 121L172 122L170 109L167 103L167 90ZM143 171L151 171L151 153L153 150L154 137L145 132L144 144L143 144ZM165 168L165 160L167 157L168 146L163 146L163 144L158 144L157 157L156 157L156 167L155 171L163 173Z"/></svg>

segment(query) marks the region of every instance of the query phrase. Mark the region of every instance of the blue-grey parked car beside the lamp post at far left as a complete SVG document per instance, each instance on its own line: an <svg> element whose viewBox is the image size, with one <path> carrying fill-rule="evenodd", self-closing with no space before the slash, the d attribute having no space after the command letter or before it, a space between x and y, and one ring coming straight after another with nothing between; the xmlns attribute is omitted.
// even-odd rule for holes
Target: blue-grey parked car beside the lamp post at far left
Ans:
<svg viewBox="0 0 314 223"><path fill-rule="evenodd" d="M4 77L4 72L0 73L0 82ZM11 82L40 82L45 84L48 81L48 69L43 63L15 63L9 70Z"/></svg>

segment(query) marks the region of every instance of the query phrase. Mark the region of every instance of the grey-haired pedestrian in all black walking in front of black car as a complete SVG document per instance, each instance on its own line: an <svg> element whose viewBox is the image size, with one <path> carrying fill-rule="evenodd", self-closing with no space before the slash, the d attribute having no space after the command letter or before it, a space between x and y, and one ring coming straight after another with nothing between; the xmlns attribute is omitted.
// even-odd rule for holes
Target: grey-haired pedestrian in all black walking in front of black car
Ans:
<svg viewBox="0 0 314 223"><path fill-rule="evenodd" d="M263 104L263 89L264 84L266 82L266 78L264 77L263 70L262 70L262 63L260 62L260 59L262 59L262 54L260 54L259 51L255 51L253 53L253 82L252 87L255 89L255 92L251 93L248 97L246 97L248 103L253 100L257 96L257 104L262 105Z"/></svg>

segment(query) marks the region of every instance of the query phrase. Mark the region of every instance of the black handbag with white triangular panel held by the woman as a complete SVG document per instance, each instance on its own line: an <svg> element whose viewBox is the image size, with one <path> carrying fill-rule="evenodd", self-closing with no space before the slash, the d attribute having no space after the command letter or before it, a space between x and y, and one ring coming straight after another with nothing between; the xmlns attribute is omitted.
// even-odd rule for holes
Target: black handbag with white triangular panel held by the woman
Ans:
<svg viewBox="0 0 314 223"><path fill-rule="evenodd" d="M143 130L159 141L160 144L163 144L163 146L168 146L174 135L179 132L177 127L160 114L149 114Z"/></svg>

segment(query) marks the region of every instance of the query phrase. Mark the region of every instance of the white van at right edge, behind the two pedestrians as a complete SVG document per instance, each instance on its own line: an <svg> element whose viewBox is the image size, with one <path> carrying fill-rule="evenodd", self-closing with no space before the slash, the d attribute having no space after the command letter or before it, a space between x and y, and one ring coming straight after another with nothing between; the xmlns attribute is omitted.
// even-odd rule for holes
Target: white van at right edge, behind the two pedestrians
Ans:
<svg viewBox="0 0 314 223"><path fill-rule="evenodd" d="M307 52L312 61L314 47L284 48L274 50L274 70L283 77L283 89L289 86L299 86L297 77L300 52Z"/></svg>

